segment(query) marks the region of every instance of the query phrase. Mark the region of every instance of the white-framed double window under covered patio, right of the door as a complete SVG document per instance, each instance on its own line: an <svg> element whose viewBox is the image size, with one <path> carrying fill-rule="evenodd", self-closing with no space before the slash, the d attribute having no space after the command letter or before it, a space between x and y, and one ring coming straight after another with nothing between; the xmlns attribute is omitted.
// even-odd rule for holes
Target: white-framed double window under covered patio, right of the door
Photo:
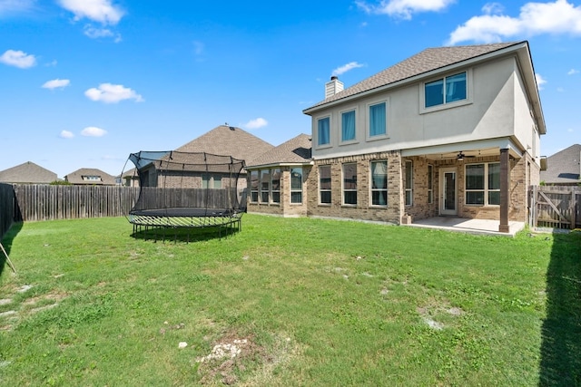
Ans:
<svg viewBox="0 0 581 387"><path fill-rule="evenodd" d="M466 204L500 205L500 163L466 166Z"/></svg>

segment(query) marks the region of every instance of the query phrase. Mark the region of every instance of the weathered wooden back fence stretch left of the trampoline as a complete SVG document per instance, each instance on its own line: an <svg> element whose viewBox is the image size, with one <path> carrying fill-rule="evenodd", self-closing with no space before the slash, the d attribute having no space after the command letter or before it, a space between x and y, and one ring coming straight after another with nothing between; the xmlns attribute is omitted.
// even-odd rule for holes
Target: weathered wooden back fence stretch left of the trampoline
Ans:
<svg viewBox="0 0 581 387"><path fill-rule="evenodd" d="M121 217L139 189L114 186L15 185L15 220Z"/></svg>

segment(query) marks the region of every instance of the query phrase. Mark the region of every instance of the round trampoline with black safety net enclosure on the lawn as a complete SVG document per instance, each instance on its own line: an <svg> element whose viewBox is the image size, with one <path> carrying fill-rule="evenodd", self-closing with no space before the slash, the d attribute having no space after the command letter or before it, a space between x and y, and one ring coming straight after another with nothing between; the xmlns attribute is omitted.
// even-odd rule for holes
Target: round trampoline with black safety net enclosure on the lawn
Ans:
<svg viewBox="0 0 581 387"><path fill-rule="evenodd" d="M134 169L123 172L125 185L139 187L128 220L133 236L153 232L157 237L178 229L215 227L230 234L241 230L246 208L244 160L205 152L145 151L132 153ZM125 163L125 166L127 163ZM124 169L124 168L123 168ZM240 180L240 181L239 181Z"/></svg>

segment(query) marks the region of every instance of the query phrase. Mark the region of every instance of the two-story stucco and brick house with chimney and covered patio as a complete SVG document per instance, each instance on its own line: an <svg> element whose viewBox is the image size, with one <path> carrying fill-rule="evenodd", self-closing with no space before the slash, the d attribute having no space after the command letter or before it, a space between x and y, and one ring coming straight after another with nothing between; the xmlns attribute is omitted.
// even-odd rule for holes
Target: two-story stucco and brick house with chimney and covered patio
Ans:
<svg viewBox="0 0 581 387"><path fill-rule="evenodd" d="M331 77L303 112L309 216L496 219L500 232L527 220L546 133L527 42L430 48L349 88Z"/></svg>

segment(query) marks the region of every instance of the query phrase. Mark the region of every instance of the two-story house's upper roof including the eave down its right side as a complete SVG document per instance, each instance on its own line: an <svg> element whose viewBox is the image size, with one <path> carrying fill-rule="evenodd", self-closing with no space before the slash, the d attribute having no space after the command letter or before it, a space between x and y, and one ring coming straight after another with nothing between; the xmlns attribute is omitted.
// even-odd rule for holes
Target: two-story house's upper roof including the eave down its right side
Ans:
<svg viewBox="0 0 581 387"><path fill-rule="evenodd" d="M505 49L520 50L521 48L527 48L527 54L522 53L520 58L523 61L530 63L530 66L524 66L524 71L527 72L527 83L529 84L530 90L533 90L534 95L531 97L533 99L534 108L537 109L537 117L539 117L540 127L539 131L545 133L545 123L542 121L542 111L540 108L540 101L538 98L537 82L535 80L535 74L532 69L532 60L530 58L530 53L528 53L527 42L512 42L512 43L499 43L499 44L478 44L478 45L464 45L464 46L449 46L449 47L437 47L428 48L420 53L417 53L408 59L399 62L382 72L370 76L369 78L350 86L349 88L338 92L325 100L316 103L303 112L309 114L313 111L319 110L324 105L330 104L332 102L340 102L340 100L350 99L350 97L358 96L361 93L375 92L382 90L383 88L398 84L399 82L405 82L407 80L415 79L419 76L430 75L431 72L438 71L448 66L452 66L457 63L463 63L471 59L484 58L485 55L490 53L502 53ZM530 67L530 69L529 69Z"/></svg>

